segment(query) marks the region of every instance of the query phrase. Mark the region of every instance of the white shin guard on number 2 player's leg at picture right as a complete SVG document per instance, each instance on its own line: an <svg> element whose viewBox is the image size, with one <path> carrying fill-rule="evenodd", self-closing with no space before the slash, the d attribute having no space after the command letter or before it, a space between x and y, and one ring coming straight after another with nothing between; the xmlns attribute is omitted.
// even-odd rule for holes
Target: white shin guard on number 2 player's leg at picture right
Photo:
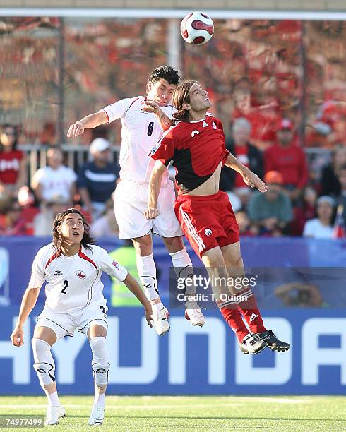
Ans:
<svg viewBox="0 0 346 432"><path fill-rule="evenodd" d="M90 339L90 347L93 352L91 361L95 384L98 388L106 387L108 384L109 354L106 338L103 336Z"/></svg>

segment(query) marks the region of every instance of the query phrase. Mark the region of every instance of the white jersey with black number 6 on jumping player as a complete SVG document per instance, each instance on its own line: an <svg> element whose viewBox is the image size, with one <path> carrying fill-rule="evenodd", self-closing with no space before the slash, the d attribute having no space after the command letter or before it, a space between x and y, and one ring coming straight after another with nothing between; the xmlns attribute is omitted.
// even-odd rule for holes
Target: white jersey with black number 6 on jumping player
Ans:
<svg viewBox="0 0 346 432"><path fill-rule="evenodd" d="M148 153L164 132L157 116L143 110L143 100L143 96L121 99L103 109L109 123L121 119L120 178L139 183L149 182L155 160ZM172 119L173 105L161 109ZM165 172L162 185L167 181Z"/></svg>

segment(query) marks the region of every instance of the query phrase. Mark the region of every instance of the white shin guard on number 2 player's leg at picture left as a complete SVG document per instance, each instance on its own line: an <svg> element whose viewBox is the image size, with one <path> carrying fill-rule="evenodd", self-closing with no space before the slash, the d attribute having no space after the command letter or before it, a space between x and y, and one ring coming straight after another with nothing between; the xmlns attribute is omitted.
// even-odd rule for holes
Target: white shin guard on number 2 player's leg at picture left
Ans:
<svg viewBox="0 0 346 432"><path fill-rule="evenodd" d="M32 351L34 354L34 369L37 372L41 387L46 390L47 385L55 381L55 363L51 352L51 346L44 340L32 338Z"/></svg>

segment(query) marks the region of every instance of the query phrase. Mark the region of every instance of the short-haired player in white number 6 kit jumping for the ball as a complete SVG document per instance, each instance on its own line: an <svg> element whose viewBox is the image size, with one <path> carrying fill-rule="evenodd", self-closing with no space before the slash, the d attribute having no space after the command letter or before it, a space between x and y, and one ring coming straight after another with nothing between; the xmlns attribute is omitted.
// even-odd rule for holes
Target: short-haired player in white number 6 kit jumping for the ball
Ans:
<svg viewBox="0 0 346 432"><path fill-rule="evenodd" d="M132 239L136 248L138 275L153 306L153 324L158 335L168 332L169 314L161 302L157 287L151 233L162 236L178 277L188 277L192 272L191 259L181 240L183 233L174 215L175 192L167 172L162 176L157 201L160 216L147 220L143 215L148 203L150 174L155 164L148 157L148 152L163 131L172 125L174 108L170 102L179 80L179 73L172 66L160 66L148 78L146 97L131 97L108 105L72 124L67 134L74 138L85 128L121 119L121 181L115 191L115 217L119 225L119 238ZM191 292L187 294L193 294L193 288L189 289ZM202 326L205 323L201 309L193 301L186 303L186 318L192 325Z"/></svg>

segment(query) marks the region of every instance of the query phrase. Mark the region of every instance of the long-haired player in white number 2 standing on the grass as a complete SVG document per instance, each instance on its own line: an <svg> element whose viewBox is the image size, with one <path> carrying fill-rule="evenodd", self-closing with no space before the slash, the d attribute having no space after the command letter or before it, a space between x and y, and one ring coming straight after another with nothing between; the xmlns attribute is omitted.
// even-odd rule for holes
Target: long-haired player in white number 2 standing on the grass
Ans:
<svg viewBox="0 0 346 432"><path fill-rule="evenodd" d="M105 249L95 246L95 240L89 235L88 223L78 210L69 208L59 213L54 221L52 243L40 248L35 256L18 322L11 335L13 345L23 345L23 325L46 281L46 304L37 318L32 350L34 368L48 398L45 422L48 425L58 424L59 418L65 416L56 391L51 348L61 337L73 336L76 329L88 336L93 352L95 400L89 424L100 425L103 422L109 354L106 344L108 308L102 294L102 271L124 282L141 301L151 327L150 302L136 280L122 265L113 261Z"/></svg>

